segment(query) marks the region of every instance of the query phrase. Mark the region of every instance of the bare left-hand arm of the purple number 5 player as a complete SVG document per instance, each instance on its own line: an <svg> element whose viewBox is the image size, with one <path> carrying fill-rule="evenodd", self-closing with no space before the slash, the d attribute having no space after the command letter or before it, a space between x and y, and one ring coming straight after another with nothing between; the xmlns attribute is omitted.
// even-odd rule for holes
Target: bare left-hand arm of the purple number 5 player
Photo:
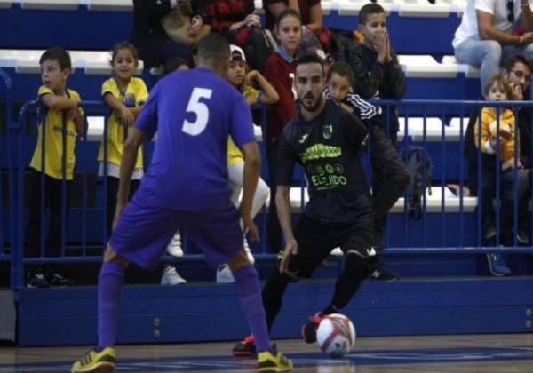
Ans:
<svg viewBox="0 0 533 373"><path fill-rule="evenodd" d="M128 133L128 139L124 144L123 157L120 163L120 180L118 182L118 192L116 194L116 210L115 218L113 219L113 228L115 228L118 218L128 204L128 197L130 195L130 181L133 167L137 161L137 153L139 147L147 140L147 135L133 127Z"/></svg>

